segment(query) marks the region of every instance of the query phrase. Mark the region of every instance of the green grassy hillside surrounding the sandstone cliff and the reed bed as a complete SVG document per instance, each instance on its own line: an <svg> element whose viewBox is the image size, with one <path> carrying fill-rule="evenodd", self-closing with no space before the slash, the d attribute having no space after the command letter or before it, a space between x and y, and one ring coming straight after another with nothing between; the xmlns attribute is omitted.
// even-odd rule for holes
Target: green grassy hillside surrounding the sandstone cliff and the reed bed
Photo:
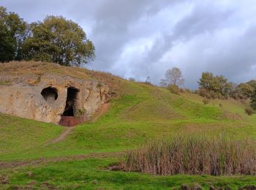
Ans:
<svg viewBox="0 0 256 190"><path fill-rule="evenodd" d="M14 62L0 66L1 75L21 76L28 72L101 80L116 96L104 115L76 126L67 138L56 143L53 140L64 131L63 127L0 114L0 175L10 180L2 185L3 189L27 186L31 181L30 186L36 188L59 189L167 189L183 183L198 183L203 188L256 185L255 176L154 176L108 170L110 164L123 158L124 151L156 138L228 132L235 138L255 140L256 115L244 113L248 102L215 99L205 105L196 94L171 94L165 88L108 73L56 64ZM0 85L8 82L1 81Z"/></svg>

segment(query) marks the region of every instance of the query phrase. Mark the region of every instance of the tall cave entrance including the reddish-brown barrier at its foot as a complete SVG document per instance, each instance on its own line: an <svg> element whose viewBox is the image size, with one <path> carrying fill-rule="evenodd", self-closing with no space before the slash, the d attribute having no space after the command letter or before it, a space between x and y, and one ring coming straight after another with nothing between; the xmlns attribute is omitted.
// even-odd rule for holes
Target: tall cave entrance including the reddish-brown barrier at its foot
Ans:
<svg viewBox="0 0 256 190"><path fill-rule="evenodd" d="M75 126L78 124L77 119L74 117L77 110L78 88L67 88L67 101L64 113L61 115L61 126Z"/></svg>

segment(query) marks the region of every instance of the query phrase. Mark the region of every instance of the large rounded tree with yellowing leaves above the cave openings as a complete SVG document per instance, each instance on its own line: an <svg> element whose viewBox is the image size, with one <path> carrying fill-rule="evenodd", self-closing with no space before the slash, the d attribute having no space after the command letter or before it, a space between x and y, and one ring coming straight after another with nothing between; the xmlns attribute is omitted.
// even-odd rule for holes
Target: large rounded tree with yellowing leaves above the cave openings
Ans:
<svg viewBox="0 0 256 190"><path fill-rule="evenodd" d="M94 59L94 45L77 23L63 17L48 16L31 23L31 37L23 44L27 60L49 61L79 66Z"/></svg>

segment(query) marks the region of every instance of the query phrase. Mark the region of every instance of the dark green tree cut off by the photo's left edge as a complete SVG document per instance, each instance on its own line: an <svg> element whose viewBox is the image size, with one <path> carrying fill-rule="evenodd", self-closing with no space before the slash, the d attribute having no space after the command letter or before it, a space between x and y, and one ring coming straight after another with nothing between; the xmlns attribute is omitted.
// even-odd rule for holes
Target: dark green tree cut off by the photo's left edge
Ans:
<svg viewBox="0 0 256 190"><path fill-rule="evenodd" d="M14 12L0 7L0 61L20 60L20 39L26 23Z"/></svg>

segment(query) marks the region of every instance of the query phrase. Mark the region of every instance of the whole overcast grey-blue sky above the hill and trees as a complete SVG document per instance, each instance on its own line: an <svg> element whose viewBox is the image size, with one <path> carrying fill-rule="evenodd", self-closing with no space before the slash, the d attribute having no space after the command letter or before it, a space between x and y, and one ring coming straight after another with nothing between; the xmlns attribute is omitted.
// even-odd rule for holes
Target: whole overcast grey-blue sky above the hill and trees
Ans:
<svg viewBox="0 0 256 190"><path fill-rule="evenodd" d="M256 78L255 0L0 0L27 22L63 15L94 42L90 69L155 84L178 66L185 86L203 71Z"/></svg>

